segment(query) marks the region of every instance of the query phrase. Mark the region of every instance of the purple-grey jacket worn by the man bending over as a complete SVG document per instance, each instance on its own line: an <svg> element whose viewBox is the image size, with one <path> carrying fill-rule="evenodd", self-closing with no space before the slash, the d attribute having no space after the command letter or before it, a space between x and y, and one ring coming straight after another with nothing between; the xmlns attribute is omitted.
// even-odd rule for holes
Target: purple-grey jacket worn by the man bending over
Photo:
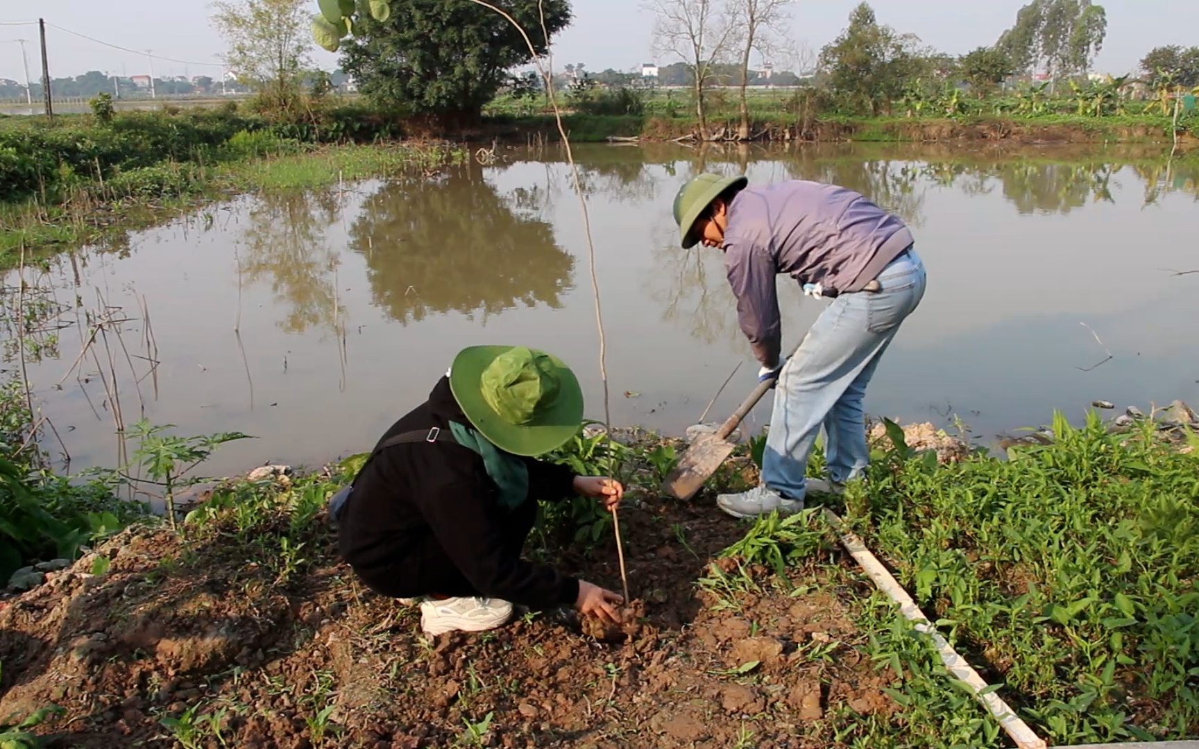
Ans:
<svg viewBox="0 0 1199 749"><path fill-rule="evenodd" d="M791 180L737 193L724 230L724 267L754 356L778 364L776 276L838 294L861 291L914 242L899 218L845 187Z"/></svg>

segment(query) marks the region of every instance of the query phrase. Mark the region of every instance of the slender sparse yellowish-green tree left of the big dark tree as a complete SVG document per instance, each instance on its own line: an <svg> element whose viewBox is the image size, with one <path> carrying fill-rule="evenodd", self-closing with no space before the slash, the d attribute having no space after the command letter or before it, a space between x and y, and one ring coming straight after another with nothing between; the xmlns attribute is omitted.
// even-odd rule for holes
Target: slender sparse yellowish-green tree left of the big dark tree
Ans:
<svg viewBox="0 0 1199 749"><path fill-rule="evenodd" d="M307 0L217 0L212 24L224 37L225 64L272 109L299 104L308 65Z"/></svg>

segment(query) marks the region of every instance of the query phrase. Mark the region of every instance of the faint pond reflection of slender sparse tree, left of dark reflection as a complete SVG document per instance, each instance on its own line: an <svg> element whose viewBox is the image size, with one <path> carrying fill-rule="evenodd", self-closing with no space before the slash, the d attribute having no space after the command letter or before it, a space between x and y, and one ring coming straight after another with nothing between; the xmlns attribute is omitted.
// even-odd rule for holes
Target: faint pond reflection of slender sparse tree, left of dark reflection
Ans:
<svg viewBox="0 0 1199 749"><path fill-rule="evenodd" d="M325 229L339 217L335 189L264 193L249 211L239 247L241 272L247 282L270 278L275 297L289 307L278 324L289 333L336 326L342 309L333 271L339 261Z"/></svg>

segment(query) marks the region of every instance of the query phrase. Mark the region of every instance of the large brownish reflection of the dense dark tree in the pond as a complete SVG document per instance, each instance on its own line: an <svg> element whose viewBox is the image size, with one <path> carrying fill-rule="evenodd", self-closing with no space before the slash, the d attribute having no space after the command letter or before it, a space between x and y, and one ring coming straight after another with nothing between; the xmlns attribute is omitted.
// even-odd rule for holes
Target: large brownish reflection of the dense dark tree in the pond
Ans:
<svg viewBox="0 0 1199 749"><path fill-rule="evenodd" d="M541 200L534 188L500 195L477 165L402 179L367 198L350 247L366 256L374 302L404 324L451 310L558 308L574 259L540 218Z"/></svg>

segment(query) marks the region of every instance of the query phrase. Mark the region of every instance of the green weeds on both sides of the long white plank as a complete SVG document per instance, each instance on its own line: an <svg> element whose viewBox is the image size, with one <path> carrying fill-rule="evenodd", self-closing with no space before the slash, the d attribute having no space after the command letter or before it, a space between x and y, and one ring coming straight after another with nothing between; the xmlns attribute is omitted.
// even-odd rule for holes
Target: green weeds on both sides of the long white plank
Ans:
<svg viewBox="0 0 1199 749"><path fill-rule="evenodd" d="M1199 732L1199 436L1163 440L1058 415L1048 445L956 465L888 425L846 518L921 608L1050 743L1183 738ZM753 452L753 446L751 446ZM817 560L833 537L814 511L769 515L700 579L713 609L739 610L760 574ZM836 562L825 573L861 575ZM948 676L885 596L851 603L862 648L890 676L891 714L830 714L852 747L1004 745L998 724Z"/></svg>

